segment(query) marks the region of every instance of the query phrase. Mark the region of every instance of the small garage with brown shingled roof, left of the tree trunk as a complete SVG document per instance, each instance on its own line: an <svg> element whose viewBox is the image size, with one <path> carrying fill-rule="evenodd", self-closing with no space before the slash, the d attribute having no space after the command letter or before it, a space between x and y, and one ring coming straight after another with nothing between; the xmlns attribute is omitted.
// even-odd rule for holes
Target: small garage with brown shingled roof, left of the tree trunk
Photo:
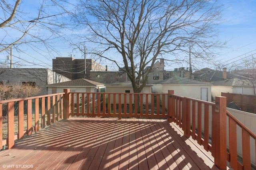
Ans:
<svg viewBox="0 0 256 170"><path fill-rule="evenodd" d="M49 84L47 88L48 94L61 93L64 89L70 89L70 92L105 92L106 89L104 84L84 78Z"/></svg>

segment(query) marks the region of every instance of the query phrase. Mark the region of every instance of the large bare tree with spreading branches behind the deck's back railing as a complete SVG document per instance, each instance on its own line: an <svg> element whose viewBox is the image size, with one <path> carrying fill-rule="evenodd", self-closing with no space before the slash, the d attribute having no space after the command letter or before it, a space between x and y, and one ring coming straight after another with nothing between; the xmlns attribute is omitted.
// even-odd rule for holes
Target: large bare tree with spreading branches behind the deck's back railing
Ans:
<svg viewBox="0 0 256 170"><path fill-rule="evenodd" d="M222 46L216 39L221 9L214 0L80 0L74 18L83 30L80 43L95 47L87 53L116 63L141 92L160 58L188 61L190 46L191 55L212 57ZM109 57L116 52L123 62Z"/></svg>

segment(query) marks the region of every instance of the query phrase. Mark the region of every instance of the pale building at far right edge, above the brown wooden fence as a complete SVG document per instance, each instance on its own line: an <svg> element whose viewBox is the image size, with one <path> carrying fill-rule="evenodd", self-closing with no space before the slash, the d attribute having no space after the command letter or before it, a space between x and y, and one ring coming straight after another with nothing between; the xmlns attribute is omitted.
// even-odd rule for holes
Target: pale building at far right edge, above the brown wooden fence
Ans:
<svg viewBox="0 0 256 170"><path fill-rule="evenodd" d="M221 96L221 92L256 95L256 81L250 79L242 80L238 78L231 78L212 83L212 96Z"/></svg>

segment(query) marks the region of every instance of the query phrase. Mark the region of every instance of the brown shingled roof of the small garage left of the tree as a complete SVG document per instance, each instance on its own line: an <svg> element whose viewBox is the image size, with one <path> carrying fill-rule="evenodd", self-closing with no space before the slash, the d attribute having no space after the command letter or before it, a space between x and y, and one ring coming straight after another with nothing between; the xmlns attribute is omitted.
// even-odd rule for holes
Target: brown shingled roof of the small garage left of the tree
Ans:
<svg viewBox="0 0 256 170"><path fill-rule="evenodd" d="M104 84L99 82L94 82L85 78L80 78L76 80L71 80L67 82L49 84L48 86L104 86Z"/></svg>

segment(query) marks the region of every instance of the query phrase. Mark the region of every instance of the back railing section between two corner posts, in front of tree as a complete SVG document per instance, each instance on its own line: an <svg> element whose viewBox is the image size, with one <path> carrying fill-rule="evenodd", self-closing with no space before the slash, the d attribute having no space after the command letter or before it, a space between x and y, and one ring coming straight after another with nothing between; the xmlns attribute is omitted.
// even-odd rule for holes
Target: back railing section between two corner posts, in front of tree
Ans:
<svg viewBox="0 0 256 170"><path fill-rule="evenodd" d="M69 116L167 119L168 94L70 92Z"/></svg>

